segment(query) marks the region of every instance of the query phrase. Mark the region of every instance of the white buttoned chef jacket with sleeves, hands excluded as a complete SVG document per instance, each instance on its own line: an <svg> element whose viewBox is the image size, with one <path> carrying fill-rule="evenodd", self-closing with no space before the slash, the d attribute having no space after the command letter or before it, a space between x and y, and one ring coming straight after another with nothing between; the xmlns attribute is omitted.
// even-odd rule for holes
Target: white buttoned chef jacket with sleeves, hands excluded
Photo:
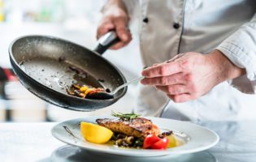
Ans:
<svg viewBox="0 0 256 162"><path fill-rule="evenodd" d="M219 83L197 100L174 103L154 87L141 87L137 113L179 120L256 118L255 0L124 0L139 19L141 58L145 66L178 53L223 52L246 75ZM250 94L250 95L249 95Z"/></svg>

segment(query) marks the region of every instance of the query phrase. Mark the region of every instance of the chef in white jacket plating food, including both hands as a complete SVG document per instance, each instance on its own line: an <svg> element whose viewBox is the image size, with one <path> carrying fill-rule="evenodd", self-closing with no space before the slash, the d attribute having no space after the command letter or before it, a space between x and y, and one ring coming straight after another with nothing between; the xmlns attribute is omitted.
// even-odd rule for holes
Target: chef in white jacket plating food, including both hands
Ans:
<svg viewBox="0 0 256 162"><path fill-rule="evenodd" d="M190 121L256 117L256 1L109 0L97 37L115 30L120 49L139 19L136 113Z"/></svg>

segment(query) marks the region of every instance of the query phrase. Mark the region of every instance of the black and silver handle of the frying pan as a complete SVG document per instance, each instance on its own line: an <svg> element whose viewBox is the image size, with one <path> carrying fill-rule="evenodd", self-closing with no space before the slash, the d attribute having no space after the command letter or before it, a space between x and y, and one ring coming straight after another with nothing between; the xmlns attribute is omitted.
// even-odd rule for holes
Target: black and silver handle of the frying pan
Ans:
<svg viewBox="0 0 256 162"><path fill-rule="evenodd" d="M98 40L98 45L94 51L99 54L103 54L106 49L110 48L112 45L115 45L117 42L119 42L119 37L116 35L115 31L106 32L106 34L100 37Z"/></svg>

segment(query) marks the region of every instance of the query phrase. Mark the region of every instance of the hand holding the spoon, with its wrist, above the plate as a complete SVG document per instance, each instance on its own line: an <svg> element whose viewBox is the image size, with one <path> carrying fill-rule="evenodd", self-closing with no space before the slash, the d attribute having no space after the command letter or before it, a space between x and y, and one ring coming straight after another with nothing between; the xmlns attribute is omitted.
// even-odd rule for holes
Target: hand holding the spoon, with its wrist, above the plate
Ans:
<svg viewBox="0 0 256 162"><path fill-rule="evenodd" d="M142 84L166 92L175 102L195 100L224 80L244 75L245 70L232 64L219 50L209 54L182 53L170 61L142 71Z"/></svg>

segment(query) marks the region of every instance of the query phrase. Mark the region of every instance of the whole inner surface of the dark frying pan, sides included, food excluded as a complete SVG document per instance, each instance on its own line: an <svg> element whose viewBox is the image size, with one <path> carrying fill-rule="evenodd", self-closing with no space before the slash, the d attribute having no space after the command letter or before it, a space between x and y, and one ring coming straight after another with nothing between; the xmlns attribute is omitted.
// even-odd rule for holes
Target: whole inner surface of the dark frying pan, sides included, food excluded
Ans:
<svg viewBox="0 0 256 162"><path fill-rule="evenodd" d="M101 56L64 40L28 36L15 42L12 53L20 69L32 79L64 94L73 83L111 91L124 83L119 72Z"/></svg>

